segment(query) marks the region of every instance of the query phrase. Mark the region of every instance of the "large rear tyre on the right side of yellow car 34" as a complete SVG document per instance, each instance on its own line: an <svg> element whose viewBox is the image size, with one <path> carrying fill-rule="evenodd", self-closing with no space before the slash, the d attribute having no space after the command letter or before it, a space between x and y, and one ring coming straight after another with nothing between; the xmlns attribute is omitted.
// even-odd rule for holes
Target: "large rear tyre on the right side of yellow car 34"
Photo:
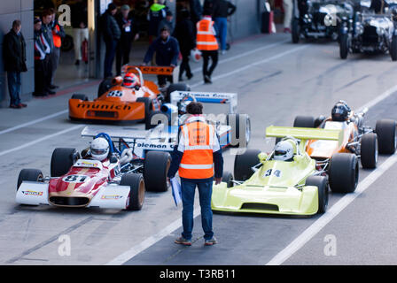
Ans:
<svg viewBox="0 0 397 283"><path fill-rule="evenodd" d="M332 192L353 193L358 183L357 157L351 153L335 153L328 173Z"/></svg>

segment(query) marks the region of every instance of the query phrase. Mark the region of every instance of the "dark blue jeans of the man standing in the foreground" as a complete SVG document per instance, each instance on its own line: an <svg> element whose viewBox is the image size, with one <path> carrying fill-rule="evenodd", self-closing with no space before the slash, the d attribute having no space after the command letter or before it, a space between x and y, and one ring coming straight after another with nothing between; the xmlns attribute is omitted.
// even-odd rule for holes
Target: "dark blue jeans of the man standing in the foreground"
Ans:
<svg viewBox="0 0 397 283"><path fill-rule="evenodd" d="M198 182L181 179L182 186L182 236L186 240L191 240L193 231L193 207L194 193L199 187L199 200L201 206L201 224L204 230L204 239L210 240L214 236L213 232L213 211L211 210L211 195L213 194L213 181Z"/></svg>

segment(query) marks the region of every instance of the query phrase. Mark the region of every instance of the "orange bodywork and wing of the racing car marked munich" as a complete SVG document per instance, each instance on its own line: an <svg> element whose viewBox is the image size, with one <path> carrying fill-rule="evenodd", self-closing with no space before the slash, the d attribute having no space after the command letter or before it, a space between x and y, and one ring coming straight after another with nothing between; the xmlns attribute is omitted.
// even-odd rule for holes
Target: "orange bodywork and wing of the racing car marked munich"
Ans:
<svg viewBox="0 0 397 283"><path fill-rule="evenodd" d="M124 66L123 72L139 72L169 75L173 67L153 66ZM141 81L142 84L142 81ZM69 99L69 118L74 120L101 120L101 121L142 121L145 118L144 102L136 101L139 97L149 97L152 101L152 111L160 110L158 96L159 87L150 80L144 80L141 88L125 88L122 86L122 77L113 79L113 87L104 95L93 101Z"/></svg>

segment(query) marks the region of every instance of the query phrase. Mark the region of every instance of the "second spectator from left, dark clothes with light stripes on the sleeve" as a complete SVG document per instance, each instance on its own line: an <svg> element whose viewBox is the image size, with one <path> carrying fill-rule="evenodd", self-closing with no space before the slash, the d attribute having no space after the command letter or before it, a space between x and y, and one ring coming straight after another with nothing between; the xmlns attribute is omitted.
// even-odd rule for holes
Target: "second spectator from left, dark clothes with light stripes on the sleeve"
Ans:
<svg viewBox="0 0 397 283"><path fill-rule="evenodd" d="M35 40L35 92L33 96L48 96L46 89L46 65L45 58L50 57L50 44L45 40L42 31L42 20L38 17L34 19L34 40Z"/></svg>

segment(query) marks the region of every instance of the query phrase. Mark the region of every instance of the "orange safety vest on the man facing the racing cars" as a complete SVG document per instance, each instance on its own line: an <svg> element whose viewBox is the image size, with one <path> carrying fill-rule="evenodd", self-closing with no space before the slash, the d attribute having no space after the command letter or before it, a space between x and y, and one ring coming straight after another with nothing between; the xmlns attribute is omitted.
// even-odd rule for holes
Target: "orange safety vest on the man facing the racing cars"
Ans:
<svg viewBox="0 0 397 283"><path fill-rule="evenodd" d="M214 126L194 121L182 126L184 151L179 176L185 179L207 179L214 176Z"/></svg>

